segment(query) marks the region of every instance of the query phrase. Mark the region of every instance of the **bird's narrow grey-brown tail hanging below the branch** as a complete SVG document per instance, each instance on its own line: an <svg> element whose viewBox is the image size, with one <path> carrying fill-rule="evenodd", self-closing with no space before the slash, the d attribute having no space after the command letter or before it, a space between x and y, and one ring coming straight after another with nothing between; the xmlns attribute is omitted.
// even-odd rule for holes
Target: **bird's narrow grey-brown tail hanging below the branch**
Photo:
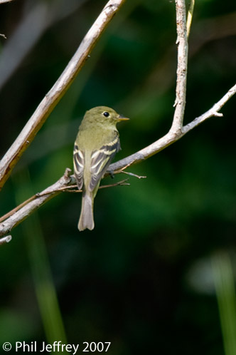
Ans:
<svg viewBox="0 0 236 355"><path fill-rule="evenodd" d="M82 207L80 212L80 220L78 223L78 230L93 230L95 222L93 220L93 200L92 192L82 192Z"/></svg>

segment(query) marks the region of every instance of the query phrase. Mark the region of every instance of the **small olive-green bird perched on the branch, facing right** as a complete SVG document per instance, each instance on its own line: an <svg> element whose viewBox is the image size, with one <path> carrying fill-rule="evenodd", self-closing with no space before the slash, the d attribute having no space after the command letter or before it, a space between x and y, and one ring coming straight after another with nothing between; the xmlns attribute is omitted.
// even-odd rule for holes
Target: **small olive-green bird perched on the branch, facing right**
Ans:
<svg viewBox="0 0 236 355"><path fill-rule="evenodd" d="M114 155L121 149L117 123L129 120L107 106L87 110L79 127L73 151L73 165L82 206L78 230L93 230L94 199L100 181Z"/></svg>

